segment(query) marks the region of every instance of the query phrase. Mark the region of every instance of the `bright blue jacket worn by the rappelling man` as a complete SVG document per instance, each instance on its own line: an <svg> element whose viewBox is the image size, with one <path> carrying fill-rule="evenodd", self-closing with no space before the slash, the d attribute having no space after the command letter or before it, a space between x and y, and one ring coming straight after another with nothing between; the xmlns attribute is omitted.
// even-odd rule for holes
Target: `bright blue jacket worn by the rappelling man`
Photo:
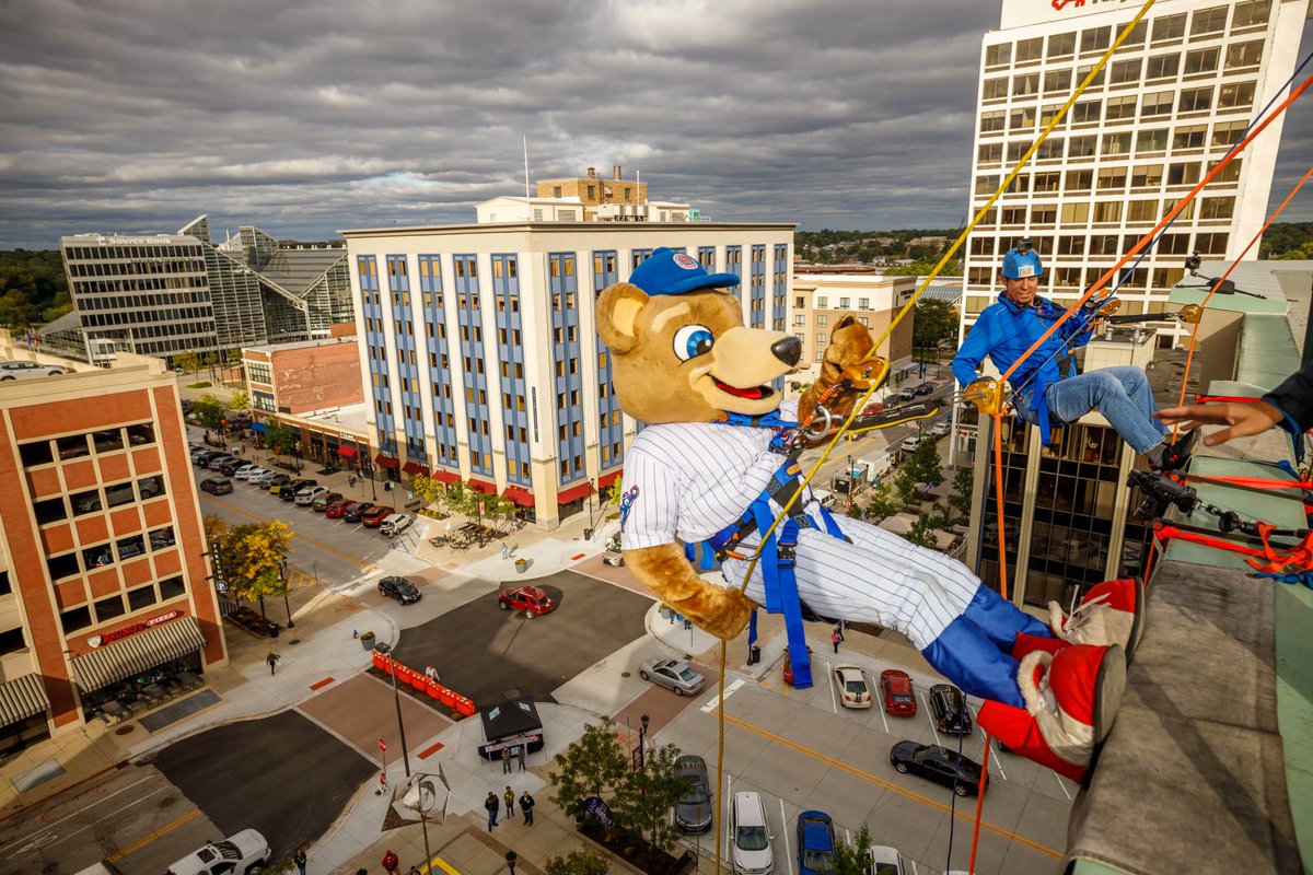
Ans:
<svg viewBox="0 0 1313 875"><path fill-rule="evenodd" d="M953 376L965 387L976 379L976 369L981 366L986 356L1002 374L1064 312L1062 307L1058 307L1046 298L1036 296L1033 304L1023 308L1001 294L998 303L990 304L979 315L976 325L966 335L961 349L957 350L957 356L953 357ZM1011 376L1010 382L1014 387L1024 387L1023 400L1025 408L1044 411L1044 416L1039 417L1044 425L1046 425L1048 420L1048 408L1043 405L1044 390L1050 383L1062 379L1061 363L1065 357L1058 350L1062 346L1085 346L1090 342L1090 333L1094 325L1092 321L1090 324L1085 324L1085 321L1081 314L1073 315ZM1039 374L1036 374L1036 370L1039 370Z"/></svg>

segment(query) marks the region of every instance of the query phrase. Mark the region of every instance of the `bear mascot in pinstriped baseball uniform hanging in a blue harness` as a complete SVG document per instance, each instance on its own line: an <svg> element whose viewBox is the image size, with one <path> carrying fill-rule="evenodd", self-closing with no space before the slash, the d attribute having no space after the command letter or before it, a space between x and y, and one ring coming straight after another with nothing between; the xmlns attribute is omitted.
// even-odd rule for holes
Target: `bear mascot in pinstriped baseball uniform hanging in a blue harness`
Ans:
<svg viewBox="0 0 1313 875"><path fill-rule="evenodd" d="M758 606L784 614L800 683L810 682L804 618L895 628L944 677L985 699L978 718L987 732L1083 781L1142 632L1142 584L1099 584L1070 617L1052 606L1045 626L960 561L832 517L802 484L789 438L798 412L818 400L831 415L852 409L861 382L848 369L877 361L871 333L842 317L817 382L781 401L771 383L798 370L802 344L744 327L726 291L738 282L659 248L597 299L620 407L645 424L625 458L625 564L722 639L737 636ZM700 576L699 551L714 551L725 585Z"/></svg>

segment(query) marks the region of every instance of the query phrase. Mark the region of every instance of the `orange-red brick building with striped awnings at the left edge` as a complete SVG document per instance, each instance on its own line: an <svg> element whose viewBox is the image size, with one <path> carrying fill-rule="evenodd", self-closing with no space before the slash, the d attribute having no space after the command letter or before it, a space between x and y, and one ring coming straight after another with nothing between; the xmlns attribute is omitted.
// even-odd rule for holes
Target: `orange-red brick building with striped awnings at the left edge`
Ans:
<svg viewBox="0 0 1313 875"><path fill-rule="evenodd" d="M161 359L0 384L0 754L227 660Z"/></svg>

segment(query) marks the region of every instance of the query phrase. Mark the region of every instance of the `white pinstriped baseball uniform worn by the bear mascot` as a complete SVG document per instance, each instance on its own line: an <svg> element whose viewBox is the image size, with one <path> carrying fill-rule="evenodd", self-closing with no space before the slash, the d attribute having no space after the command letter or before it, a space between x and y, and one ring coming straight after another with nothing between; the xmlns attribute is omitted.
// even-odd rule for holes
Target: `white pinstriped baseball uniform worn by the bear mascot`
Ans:
<svg viewBox="0 0 1313 875"><path fill-rule="evenodd" d="M786 401L781 415L794 409L796 401ZM638 492L621 529L624 547L705 540L737 521L783 463L769 451L771 436L771 429L713 422L643 429L625 459L624 488ZM960 561L847 517L838 519L852 543L831 538L810 492L805 499L819 530L800 534L796 576L811 610L895 628L918 649L966 610L979 580ZM734 559L722 567L733 586L742 585L746 571L747 563ZM765 601L760 564L747 594Z"/></svg>

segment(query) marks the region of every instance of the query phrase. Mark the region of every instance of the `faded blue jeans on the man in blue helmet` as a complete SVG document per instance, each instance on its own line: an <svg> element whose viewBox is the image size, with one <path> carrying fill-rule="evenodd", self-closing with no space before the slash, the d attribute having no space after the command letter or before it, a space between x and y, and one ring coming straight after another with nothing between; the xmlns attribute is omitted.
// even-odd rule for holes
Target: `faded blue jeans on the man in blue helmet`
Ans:
<svg viewBox="0 0 1313 875"><path fill-rule="evenodd" d="M1100 367L1049 383L1044 400L1049 413L1064 422L1075 422L1098 409L1136 453L1153 449L1167 434L1167 429L1153 418L1158 408L1149 391L1149 379L1133 365ZM1031 411L1025 413L1033 416Z"/></svg>

